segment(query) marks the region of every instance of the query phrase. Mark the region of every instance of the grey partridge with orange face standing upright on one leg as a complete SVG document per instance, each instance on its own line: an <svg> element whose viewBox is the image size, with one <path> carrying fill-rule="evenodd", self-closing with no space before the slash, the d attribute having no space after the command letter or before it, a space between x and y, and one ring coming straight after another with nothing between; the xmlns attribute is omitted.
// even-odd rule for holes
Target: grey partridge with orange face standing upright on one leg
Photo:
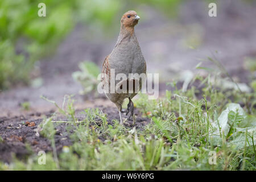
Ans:
<svg viewBox="0 0 256 182"><path fill-rule="evenodd" d="M112 52L105 57L102 65L102 88L104 89L106 97L117 106L121 125L123 123L121 115L123 101L126 98L129 98L126 115L128 115L128 119L130 119L134 115L134 104L131 99L142 88L142 79L137 79L135 77L129 78L129 73L138 73L138 75L144 73L146 75L146 61L144 60L141 47L139 46L137 36L134 32L134 27L138 24L139 19L141 18L133 10L127 11L122 15L117 42L115 43ZM114 83L117 85L117 88L119 87L119 89L122 89L124 84L127 85L126 88L130 88L129 85L132 85L133 92L109 92L111 86L110 77L113 76L110 74L111 69L114 69L115 71L114 76L117 76L118 73L122 73L128 77L127 80L115 80ZM135 81L139 82L139 84L135 84ZM137 87L135 85L137 85Z"/></svg>

